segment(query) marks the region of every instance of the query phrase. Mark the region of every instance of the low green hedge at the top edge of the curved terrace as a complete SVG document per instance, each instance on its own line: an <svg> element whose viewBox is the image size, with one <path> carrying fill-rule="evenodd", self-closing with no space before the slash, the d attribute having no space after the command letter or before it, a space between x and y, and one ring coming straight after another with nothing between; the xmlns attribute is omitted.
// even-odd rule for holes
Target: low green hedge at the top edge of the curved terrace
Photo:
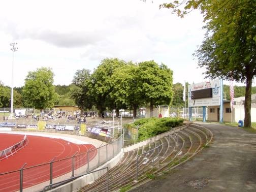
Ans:
<svg viewBox="0 0 256 192"><path fill-rule="evenodd" d="M139 141L170 131L172 127L181 126L182 118L143 118L138 119L131 126L139 126Z"/></svg>

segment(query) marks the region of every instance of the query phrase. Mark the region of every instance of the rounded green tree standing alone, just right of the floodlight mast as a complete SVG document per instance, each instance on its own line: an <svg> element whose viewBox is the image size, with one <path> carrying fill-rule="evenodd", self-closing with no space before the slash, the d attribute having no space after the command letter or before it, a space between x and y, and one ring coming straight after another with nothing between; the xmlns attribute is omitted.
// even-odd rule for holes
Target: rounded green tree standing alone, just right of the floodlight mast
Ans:
<svg viewBox="0 0 256 192"><path fill-rule="evenodd" d="M58 94L53 85L54 74L51 68L40 68L29 71L22 90L25 107L36 109L52 108L58 100Z"/></svg>

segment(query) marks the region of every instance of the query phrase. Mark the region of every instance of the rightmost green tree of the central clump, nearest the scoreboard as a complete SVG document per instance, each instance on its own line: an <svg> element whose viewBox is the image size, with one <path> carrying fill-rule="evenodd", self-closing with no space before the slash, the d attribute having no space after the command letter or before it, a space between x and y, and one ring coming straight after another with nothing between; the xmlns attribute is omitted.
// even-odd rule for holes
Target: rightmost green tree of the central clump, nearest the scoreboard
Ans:
<svg viewBox="0 0 256 192"><path fill-rule="evenodd" d="M158 66L153 60L139 63L138 89L143 92L145 103L150 105L150 117L156 105L170 105L173 98L173 72L163 63Z"/></svg>

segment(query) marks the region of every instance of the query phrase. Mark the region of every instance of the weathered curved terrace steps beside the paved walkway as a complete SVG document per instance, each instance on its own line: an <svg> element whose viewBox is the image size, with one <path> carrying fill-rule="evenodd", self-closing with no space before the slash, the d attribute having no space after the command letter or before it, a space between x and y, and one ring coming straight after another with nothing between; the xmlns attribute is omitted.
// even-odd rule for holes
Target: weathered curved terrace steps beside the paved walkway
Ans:
<svg viewBox="0 0 256 192"><path fill-rule="evenodd" d="M120 163L109 171L109 190L115 191L127 185L134 187L138 183L149 181L149 175L159 175L186 161L208 144L212 138L211 132L198 125L188 126L176 134L141 146L137 150L126 152ZM155 148L157 146L161 146L159 150ZM150 151L151 149L154 150ZM140 156L137 158L137 155ZM137 163L139 179L135 182ZM106 182L107 179L103 176L80 191L106 191Z"/></svg>

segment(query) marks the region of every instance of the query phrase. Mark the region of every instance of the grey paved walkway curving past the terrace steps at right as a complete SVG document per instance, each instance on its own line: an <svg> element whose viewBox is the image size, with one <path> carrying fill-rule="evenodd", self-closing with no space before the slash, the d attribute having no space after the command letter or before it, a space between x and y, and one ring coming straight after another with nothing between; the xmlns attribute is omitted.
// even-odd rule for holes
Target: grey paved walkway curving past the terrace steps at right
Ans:
<svg viewBox="0 0 256 192"><path fill-rule="evenodd" d="M131 191L256 191L256 134L203 123L213 141L193 159Z"/></svg>

